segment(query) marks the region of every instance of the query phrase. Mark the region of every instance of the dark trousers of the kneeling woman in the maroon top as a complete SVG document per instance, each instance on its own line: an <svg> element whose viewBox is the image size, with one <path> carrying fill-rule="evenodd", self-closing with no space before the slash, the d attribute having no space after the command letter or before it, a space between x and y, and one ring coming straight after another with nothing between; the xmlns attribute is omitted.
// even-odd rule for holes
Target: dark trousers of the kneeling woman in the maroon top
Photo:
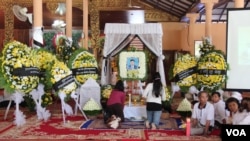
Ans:
<svg viewBox="0 0 250 141"><path fill-rule="evenodd" d="M121 118L121 122L124 121L124 114L123 114L123 105L116 103L112 105L107 105L105 110L109 116L115 115L116 117Z"/></svg>

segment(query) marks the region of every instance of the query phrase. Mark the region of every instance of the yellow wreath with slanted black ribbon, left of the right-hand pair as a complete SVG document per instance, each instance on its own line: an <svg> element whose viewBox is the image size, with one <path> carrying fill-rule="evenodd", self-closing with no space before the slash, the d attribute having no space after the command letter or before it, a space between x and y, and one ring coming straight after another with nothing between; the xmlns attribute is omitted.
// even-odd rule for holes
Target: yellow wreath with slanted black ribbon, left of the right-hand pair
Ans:
<svg viewBox="0 0 250 141"><path fill-rule="evenodd" d="M195 56L190 54L184 54L177 58L173 67L173 76L181 89L186 89L197 83L196 65L197 60Z"/></svg>

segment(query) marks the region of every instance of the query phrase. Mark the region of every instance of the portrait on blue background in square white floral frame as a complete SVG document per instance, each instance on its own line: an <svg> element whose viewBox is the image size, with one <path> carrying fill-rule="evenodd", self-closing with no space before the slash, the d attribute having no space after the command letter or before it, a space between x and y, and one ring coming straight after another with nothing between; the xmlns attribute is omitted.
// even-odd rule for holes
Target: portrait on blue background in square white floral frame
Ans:
<svg viewBox="0 0 250 141"><path fill-rule="evenodd" d="M143 51L122 51L119 54L119 76L124 80L146 79L146 55Z"/></svg>

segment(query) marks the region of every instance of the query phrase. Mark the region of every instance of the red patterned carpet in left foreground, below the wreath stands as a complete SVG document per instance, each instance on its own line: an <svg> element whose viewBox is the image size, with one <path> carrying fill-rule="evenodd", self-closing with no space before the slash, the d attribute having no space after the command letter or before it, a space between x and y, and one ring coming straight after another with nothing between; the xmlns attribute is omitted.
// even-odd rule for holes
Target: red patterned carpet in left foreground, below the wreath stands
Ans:
<svg viewBox="0 0 250 141"><path fill-rule="evenodd" d="M7 139L46 139L46 140L120 140L120 139L138 139L144 138L142 130L137 129L119 129L119 130L81 130L79 126L83 122L82 116L68 116L67 123L63 123L61 114L53 115L48 122L38 121L36 116L27 119L27 123L22 127L13 126L11 122L5 124L0 122L2 128L0 131L0 140ZM7 126L2 126L2 125Z"/></svg>

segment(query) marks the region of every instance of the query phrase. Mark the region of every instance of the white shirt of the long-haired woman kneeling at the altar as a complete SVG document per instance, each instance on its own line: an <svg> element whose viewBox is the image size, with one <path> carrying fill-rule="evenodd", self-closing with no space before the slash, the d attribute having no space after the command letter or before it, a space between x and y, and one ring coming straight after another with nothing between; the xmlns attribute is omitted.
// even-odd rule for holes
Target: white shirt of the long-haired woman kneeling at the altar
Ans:
<svg viewBox="0 0 250 141"><path fill-rule="evenodd" d="M159 104L161 104L161 101L166 100L166 94L163 86L161 90L161 96L156 97L155 95L153 95L152 92L153 92L153 83L149 83L145 88L145 90L143 91L142 97L146 98L147 102L159 103Z"/></svg>

